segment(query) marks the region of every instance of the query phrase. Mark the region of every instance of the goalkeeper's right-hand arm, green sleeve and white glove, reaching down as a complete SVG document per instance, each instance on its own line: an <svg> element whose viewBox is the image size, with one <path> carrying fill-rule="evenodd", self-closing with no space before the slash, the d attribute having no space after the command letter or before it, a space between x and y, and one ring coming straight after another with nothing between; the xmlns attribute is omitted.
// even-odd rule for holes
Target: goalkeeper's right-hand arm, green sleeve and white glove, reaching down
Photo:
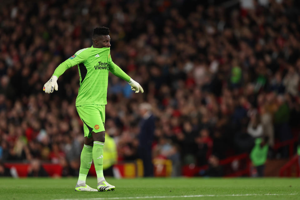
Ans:
<svg viewBox="0 0 300 200"><path fill-rule="evenodd" d="M132 78L130 78L130 76L128 76L121 68L119 68L118 65L113 63L113 60L110 55L108 58L108 68L109 68L109 71L111 73L113 73L113 75L127 81L128 84L131 86L131 89L133 91L135 91L135 93L138 93L139 91L141 91L141 93L144 92L142 86L138 82L136 82Z"/></svg>

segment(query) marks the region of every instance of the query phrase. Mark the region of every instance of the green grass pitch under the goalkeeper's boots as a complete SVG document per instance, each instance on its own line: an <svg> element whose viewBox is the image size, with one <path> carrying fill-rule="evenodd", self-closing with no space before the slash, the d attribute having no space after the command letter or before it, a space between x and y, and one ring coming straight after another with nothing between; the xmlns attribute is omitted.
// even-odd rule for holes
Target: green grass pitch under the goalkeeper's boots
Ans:
<svg viewBox="0 0 300 200"><path fill-rule="evenodd" d="M128 197L204 195L148 199L300 199L299 178L137 178L113 179L113 192L75 192L76 178L0 178L0 199L137 199ZM96 178L87 183L96 187ZM297 195L287 195L298 193ZM223 196L232 194L281 194L262 196ZM207 197L205 195L219 195ZM144 198L138 198L144 199Z"/></svg>

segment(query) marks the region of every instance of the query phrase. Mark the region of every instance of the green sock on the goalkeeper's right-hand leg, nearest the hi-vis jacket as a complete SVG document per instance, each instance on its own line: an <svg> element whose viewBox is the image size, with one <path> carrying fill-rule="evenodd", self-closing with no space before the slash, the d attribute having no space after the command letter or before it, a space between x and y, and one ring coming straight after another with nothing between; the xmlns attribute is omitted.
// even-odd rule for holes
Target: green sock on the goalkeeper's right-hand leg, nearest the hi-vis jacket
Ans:
<svg viewBox="0 0 300 200"><path fill-rule="evenodd" d="M98 185L102 184L102 182L105 181L105 178L103 176L103 147L104 143L94 141L93 159L97 174Z"/></svg>

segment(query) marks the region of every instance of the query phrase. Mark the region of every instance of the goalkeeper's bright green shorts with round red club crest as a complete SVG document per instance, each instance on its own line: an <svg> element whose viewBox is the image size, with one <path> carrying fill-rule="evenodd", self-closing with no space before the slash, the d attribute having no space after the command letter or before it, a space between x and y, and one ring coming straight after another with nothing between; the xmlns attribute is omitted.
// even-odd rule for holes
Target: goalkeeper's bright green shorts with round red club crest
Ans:
<svg viewBox="0 0 300 200"><path fill-rule="evenodd" d="M76 106L79 117L83 121L84 137L91 138L92 131L99 133L105 131L105 105Z"/></svg>

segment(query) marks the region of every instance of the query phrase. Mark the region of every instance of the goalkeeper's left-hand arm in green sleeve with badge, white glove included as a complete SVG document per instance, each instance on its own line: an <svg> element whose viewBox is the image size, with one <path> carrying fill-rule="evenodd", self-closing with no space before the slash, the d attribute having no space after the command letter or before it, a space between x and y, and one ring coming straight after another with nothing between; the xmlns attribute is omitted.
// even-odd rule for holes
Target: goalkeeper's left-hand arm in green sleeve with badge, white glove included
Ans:
<svg viewBox="0 0 300 200"><path fill-rule="evenodd" d="M85 52L86 49L81 49L78 52L76 52L73 56L68 58L66 61L58 65L58 67L55 69L52 77L50 80L45 83L43 90L45 93L53 93L53 90L58 90L58 84L57 79L60 75L62 75L67 69L78 65L80 63L83 63L87 60L87 53Z"/></svg>

